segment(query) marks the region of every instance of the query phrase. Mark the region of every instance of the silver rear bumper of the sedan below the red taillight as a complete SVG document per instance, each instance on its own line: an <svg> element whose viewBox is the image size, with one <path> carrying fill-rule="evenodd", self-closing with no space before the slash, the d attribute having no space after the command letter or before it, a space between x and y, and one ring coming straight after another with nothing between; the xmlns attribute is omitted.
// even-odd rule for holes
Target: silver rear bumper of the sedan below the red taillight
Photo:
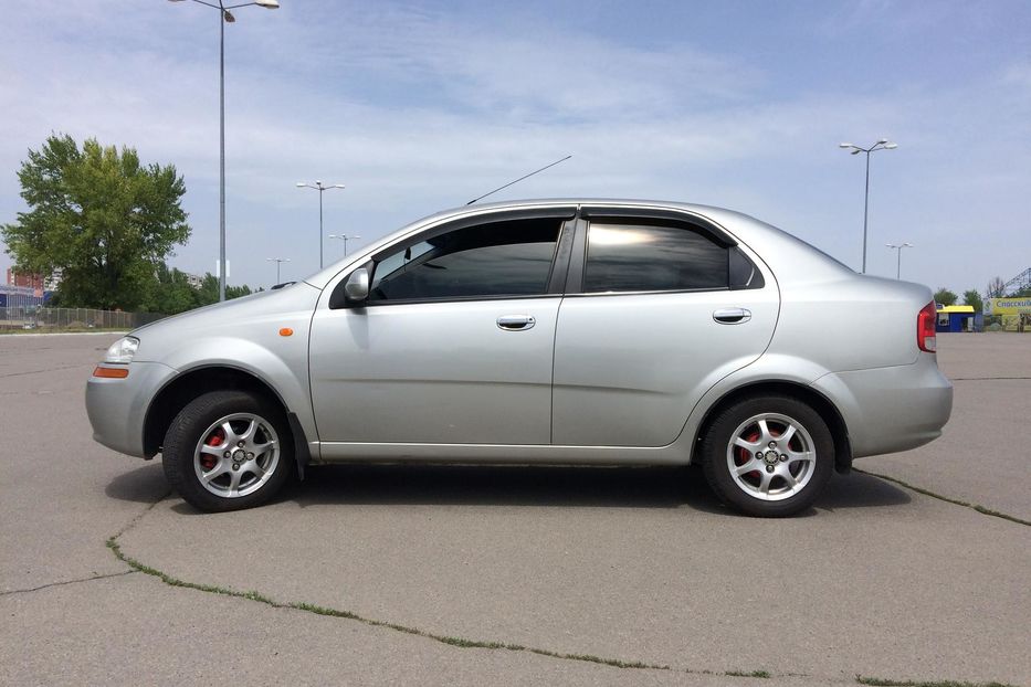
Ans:
<svg viewBox="0 0 1031 687"><path fill-rule="evenodd" d="M953 411L953 384L932 353L913 364L824 374L812 387L837 404L855 458L934 441Z"/></svg>

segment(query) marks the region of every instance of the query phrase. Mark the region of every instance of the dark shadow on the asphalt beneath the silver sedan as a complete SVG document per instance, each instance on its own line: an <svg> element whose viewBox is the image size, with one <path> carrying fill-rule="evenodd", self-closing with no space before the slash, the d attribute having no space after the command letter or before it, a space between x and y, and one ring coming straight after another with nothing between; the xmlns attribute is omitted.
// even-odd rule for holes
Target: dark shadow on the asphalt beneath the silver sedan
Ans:
<svg viewBox="0 0 1031 687"><path fill-rule="evenodd" d="M105 488L111 498L154 503L168 494L160 463L115 477ZM173 496L178 499L178 496ZM834 475L813 508L820 511L908 504L897 486L852 473ZM470 465L320 465L308 467L304 482L292 480L273 503L307 506L438 505L520 507L687 508L744 517L709 490L697 467L562 467ZM179 501L177 512L199 515Z"/></svg>

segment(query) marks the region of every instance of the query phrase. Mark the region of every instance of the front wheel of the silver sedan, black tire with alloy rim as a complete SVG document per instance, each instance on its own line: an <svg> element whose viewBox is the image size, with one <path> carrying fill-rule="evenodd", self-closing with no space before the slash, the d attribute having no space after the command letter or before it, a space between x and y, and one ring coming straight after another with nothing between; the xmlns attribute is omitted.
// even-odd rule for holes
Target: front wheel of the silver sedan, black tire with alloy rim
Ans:
<svg viewBox="0 0 1031 687"><path fill-rule="evenodd" d="M208 512L241 510L266 503L286 483L294 469L294 443L275 404L245 391L212 391L172 420L161 463L168 483L191 506ZM204 479L202 474L214 476Z"/></svg>

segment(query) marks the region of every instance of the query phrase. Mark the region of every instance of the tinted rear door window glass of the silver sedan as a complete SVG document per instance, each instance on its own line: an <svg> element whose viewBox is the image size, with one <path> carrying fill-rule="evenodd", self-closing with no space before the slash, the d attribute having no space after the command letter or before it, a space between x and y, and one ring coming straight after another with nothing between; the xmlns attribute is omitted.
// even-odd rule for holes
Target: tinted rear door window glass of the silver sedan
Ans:
<svg viewBox="0 0 1031 687"><path fill-rule="evenodd" d="M727 288L728 251L686 226L592 222L583 290Z"/></svg>

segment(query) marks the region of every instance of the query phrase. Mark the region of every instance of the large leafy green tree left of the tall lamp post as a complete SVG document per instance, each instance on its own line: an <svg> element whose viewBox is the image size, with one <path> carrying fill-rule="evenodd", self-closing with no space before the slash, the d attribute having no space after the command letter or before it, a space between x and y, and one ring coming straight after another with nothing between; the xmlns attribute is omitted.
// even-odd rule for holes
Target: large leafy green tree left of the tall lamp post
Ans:
<svg viewBox="0 0 1031 687"><path fill-rule="evenodd" d="M146 305L159 265L190 236L182 177L171 165L140 165L133 148L91 138L80 149L71 136L52 135L29 150L18 179L29 211L0 234L18 269L63 272L64 306Z"/></svg>

